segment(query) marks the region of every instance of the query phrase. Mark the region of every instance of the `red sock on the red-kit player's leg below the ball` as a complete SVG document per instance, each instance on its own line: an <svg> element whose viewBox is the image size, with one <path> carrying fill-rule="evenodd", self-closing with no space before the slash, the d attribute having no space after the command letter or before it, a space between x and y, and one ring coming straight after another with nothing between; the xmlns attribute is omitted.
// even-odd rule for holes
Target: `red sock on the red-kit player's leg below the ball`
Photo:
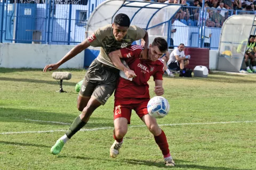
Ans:
<svg viewBox="0 0 256 170"><path fill-rule="evenodd" d="M164 131L162 130L162 133L159 134L158 136L154 136L154 138L158 147L161 149L162 154L164 155L164 158L170 157L171 155L170 155L169 145L168 145Z"/></svg>

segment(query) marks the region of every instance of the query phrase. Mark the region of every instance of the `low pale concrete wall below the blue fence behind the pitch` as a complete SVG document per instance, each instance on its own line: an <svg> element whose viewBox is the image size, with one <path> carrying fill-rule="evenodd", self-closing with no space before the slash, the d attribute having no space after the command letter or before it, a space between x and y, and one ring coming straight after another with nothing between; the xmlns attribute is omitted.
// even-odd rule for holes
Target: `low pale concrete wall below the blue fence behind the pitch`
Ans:
<svg viewBox="0 0 256 170"><path fill-rule="evenodd" d="M31 67L42 69L45 65L58 62L74 46L68 45L43 45L43 44L0 44L0 67L21 68ZM99 50L99 48L89 47ZM78 54L60 68L84 67L84 58L93 60L93 56ZM217 68L218 51L210 50L210 70Z"/></svg>

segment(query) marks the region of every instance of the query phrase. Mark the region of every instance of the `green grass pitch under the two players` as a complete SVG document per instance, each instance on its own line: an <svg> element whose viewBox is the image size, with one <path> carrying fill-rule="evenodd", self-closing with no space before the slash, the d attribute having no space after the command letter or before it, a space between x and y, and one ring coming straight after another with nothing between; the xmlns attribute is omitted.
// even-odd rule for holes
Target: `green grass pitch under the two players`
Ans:
<svg viewBox="0 0 256 170"><path fill-rule="evenodd" d="M75 84L52 72L0 68L0 169L256 169L256 75L214 73L208 78L164 78L170 113L159 119L177 166L165 167L153 135L133 114L121 153L110 158L113 96L59 155L55 141L79 115ZM151 97L154 82L149 82Z"/></svg>

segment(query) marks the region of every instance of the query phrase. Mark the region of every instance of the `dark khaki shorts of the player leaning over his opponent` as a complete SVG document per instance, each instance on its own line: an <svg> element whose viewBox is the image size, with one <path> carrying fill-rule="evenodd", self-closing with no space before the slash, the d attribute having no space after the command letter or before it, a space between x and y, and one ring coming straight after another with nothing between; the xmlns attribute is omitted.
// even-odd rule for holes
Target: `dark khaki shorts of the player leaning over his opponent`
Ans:
<svg viewBox="0 0 256 170"><path fill-rule="evenodd" d="M105 105L116 88L119 70L95 59L89 66L79 96L94 97Z"/></svg>

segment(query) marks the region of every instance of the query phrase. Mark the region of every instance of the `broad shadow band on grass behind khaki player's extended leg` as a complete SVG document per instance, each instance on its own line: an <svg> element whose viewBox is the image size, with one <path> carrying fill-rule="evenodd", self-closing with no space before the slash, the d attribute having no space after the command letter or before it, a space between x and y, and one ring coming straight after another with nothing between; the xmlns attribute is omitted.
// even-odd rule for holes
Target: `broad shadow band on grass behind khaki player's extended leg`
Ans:
<svg viewBox="0 0 256 170"><path fill-rule="evenodd" d="M79 114L77 114L78 116ZM31 124L43 124L43 125L54 125L54 126L70 126L75 120L76 115L74 114L61 114L52 112L42 112L34 109L16 109L16 108L1 108L0 110L0 122L21 122ZM27 120L26 120L27 119ZM29 121L36 120L36 121ZM48 121L48 122L41 122ZM91 123L93 121L93 123ZM97 122L98 121L98 122ZM54 122L63 122L67 124L60 124ZM91 117L85 128L94 128L102 126L114 126L113 118L102 118L102 117Z"/></svg>

